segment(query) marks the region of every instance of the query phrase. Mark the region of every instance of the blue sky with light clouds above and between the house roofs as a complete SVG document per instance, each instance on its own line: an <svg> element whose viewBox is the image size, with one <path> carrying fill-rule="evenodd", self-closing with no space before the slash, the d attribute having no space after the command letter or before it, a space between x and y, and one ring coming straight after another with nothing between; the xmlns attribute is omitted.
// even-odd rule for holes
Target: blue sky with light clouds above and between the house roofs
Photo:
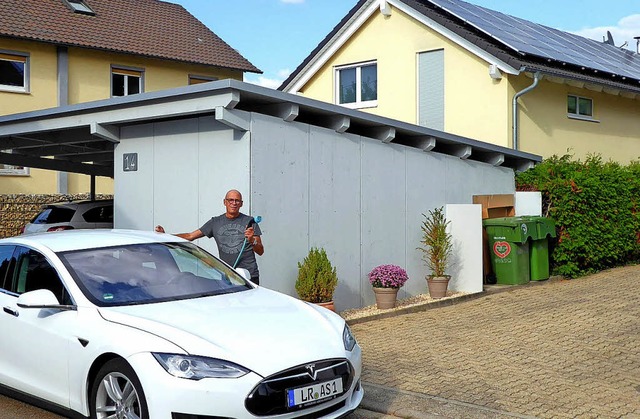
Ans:
<svg viewBox="0 0 640 419"><path fill-rule="evenodd" d="M181 4L263 74L245 81L277 88L358 0L166 0ZM640 0L467 0L531 22L636 51Z"/></svg>

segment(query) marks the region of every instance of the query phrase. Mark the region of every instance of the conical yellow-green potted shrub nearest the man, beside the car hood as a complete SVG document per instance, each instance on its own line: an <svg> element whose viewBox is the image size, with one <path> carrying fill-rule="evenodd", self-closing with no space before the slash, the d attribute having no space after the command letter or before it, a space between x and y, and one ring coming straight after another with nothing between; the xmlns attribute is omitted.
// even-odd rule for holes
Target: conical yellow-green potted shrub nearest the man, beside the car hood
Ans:
<svg viewBox="0 0 640 419"><path fill-rule="evenodd" d="M336 268L331 265L323 248L312 247L309 254L298 262L296 292L301 300L320 304L332 311L333 292L338 285Z"/></svg>

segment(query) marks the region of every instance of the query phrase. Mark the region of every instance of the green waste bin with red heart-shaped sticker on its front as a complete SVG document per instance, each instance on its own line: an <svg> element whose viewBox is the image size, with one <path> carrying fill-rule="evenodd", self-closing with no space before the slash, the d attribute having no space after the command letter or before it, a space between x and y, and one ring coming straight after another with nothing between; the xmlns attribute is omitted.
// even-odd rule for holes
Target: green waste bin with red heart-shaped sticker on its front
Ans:
<svg viewBox="0 0 640 419"><path fill-rule="evenodd" d="M483 220L496 283L526 284L530 279L529 242L536 223L521 217Z"/></svg>

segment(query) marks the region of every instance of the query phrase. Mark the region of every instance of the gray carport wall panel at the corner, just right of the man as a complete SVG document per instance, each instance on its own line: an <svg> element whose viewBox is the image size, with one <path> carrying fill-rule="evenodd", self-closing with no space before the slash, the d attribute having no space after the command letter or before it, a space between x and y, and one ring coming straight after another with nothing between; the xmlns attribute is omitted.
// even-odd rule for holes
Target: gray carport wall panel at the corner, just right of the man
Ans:
<svg viewBox="0 0 640 419"><path fill-rule="evenodd" d="M251 200L261 215L261 283L296 296L297 262L309 247L309 125L252 114ZM264 279L262 279L264 278Z"/></svg>

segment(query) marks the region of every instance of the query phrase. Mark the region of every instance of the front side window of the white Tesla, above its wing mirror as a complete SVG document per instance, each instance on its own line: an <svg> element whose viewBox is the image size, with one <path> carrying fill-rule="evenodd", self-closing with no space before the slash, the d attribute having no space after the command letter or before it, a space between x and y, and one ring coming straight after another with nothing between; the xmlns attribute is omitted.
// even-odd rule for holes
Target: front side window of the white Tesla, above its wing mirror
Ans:
<svg viewBox="0 0 640 419"><path fill-rule="evenodd" d="M71 297L64 288L58 272L41 253L19 247L14 253L16 269L13 272L11 291L16 294L47 289L60 304L71 304Z"/></svg>

